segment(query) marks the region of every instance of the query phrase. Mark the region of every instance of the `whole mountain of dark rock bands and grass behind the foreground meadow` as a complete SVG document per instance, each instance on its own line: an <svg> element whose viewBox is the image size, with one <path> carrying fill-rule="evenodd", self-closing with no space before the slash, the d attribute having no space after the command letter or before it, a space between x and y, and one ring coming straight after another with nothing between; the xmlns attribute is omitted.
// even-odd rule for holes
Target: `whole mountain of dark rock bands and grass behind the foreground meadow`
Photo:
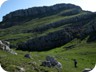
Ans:
<svg viewBox="0 0 96 72"><path fill-rule="evenodd" d="M86 37L96 40L96 13L73 4L17 10L0 23L0 39L20 50L45 51Z"/></svg>

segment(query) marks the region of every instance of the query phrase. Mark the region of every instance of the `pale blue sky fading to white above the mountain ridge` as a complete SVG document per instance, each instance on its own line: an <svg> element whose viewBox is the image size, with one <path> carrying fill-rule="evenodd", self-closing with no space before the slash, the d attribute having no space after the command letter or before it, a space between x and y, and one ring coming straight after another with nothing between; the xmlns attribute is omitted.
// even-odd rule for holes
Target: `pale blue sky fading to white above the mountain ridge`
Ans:
<svg viewBox="0 0 96 72"><path fill-rule="evenodd" d="M71 3L80 6L83 10L96 11L96 0L0 0L0 4L2 4L0 5L0 21L4 15L18 9L50 6L57 3Z"/></svg>

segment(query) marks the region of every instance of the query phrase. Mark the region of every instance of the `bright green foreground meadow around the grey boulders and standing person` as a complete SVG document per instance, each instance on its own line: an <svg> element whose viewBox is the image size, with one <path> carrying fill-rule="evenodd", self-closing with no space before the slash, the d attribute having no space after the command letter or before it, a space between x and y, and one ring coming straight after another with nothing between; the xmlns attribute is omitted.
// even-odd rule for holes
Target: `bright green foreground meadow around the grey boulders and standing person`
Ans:
<svg viewBox="0 0 96 72"><path fill-rule="evenodd" d="M76 45L74 48L66 50L67 46ZM63 72L81 72L84 68L93 68L96 64L96 43L86 43L86 40L80 42L75 39L64 46L46 51L46 52L31 52L33 59L24 58L24 54L28 52L16 51L17 56L0 51L0 62L3 64L6 70L10 72L17 71L16 66L21 66L26 69L26 72L39 72L33 70L33 67L37 67L42 72L57 72L55 68L40 67L41 62L39 60L45 60L47 55L54 56L63 65ZM78 68L74 68L72 59L77 59ZM36 65L29 65L29 62L36 62Z"/></svg>

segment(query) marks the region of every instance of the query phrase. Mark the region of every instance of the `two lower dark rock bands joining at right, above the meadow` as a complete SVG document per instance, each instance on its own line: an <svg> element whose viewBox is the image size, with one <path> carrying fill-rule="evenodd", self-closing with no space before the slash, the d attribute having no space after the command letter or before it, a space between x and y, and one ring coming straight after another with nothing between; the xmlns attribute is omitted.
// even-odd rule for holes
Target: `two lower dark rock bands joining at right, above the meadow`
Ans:
<svg viewBox="0 0 96 72"><path fill-rule="evenodd" d="M92 39L96 40L96 23L93 23L95 21L94 19L94 14L88 12L88 15L84 14L82 16L72 17L68 20L62 20L59 22L44 25L42 27L37 27L36 29L33 29L31 32L44 32L50 28L56 28L64 24L69 24L61 30L49 33L44 36L30 39L25 43L19 44L18 49L29 51L50 50L62 46L74 38L83 39L86 36L90 36L90 38L88 39L89 41ZM92 23L89 23L90 21Z"/></svg>

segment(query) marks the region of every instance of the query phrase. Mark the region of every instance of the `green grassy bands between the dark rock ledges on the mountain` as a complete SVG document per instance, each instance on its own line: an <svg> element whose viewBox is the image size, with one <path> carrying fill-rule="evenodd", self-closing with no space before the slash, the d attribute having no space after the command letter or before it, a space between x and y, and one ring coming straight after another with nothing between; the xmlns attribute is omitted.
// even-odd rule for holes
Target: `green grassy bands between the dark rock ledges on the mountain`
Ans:
<svg viewBox="0 0 96 72"><path fill-rule="evenodd" d="M66 12L66 10L63 12ZM55 32L55 31L61 30L62 28L64 28L64 26L69 25L69 24L64 24L57 28L50 28L47 31L44 31L43 33L37 33L37 32L27 33L26 31L32 30L37 27L42 27L44 25L47 25L47 24L50 24L53 22L57 22L60 20L64 20L64 19L66 20L66 19L70 19L70 18L74 18L74 17L86 14L86 12L81 12L79 14L71 15L71 16L60 16L61 13L59 13L57 15L49 16L49 17L40 18L40 19L37 18L37 19L31 20L29 22L26 22L24 24L13 26L13 27L10 27L7 29L1 29L0 30L0 40L8 40L11 42L11 44L16 44L18 42L24 42L30 38L34 38L37 36L43 36L50 32Z"/></svg>

